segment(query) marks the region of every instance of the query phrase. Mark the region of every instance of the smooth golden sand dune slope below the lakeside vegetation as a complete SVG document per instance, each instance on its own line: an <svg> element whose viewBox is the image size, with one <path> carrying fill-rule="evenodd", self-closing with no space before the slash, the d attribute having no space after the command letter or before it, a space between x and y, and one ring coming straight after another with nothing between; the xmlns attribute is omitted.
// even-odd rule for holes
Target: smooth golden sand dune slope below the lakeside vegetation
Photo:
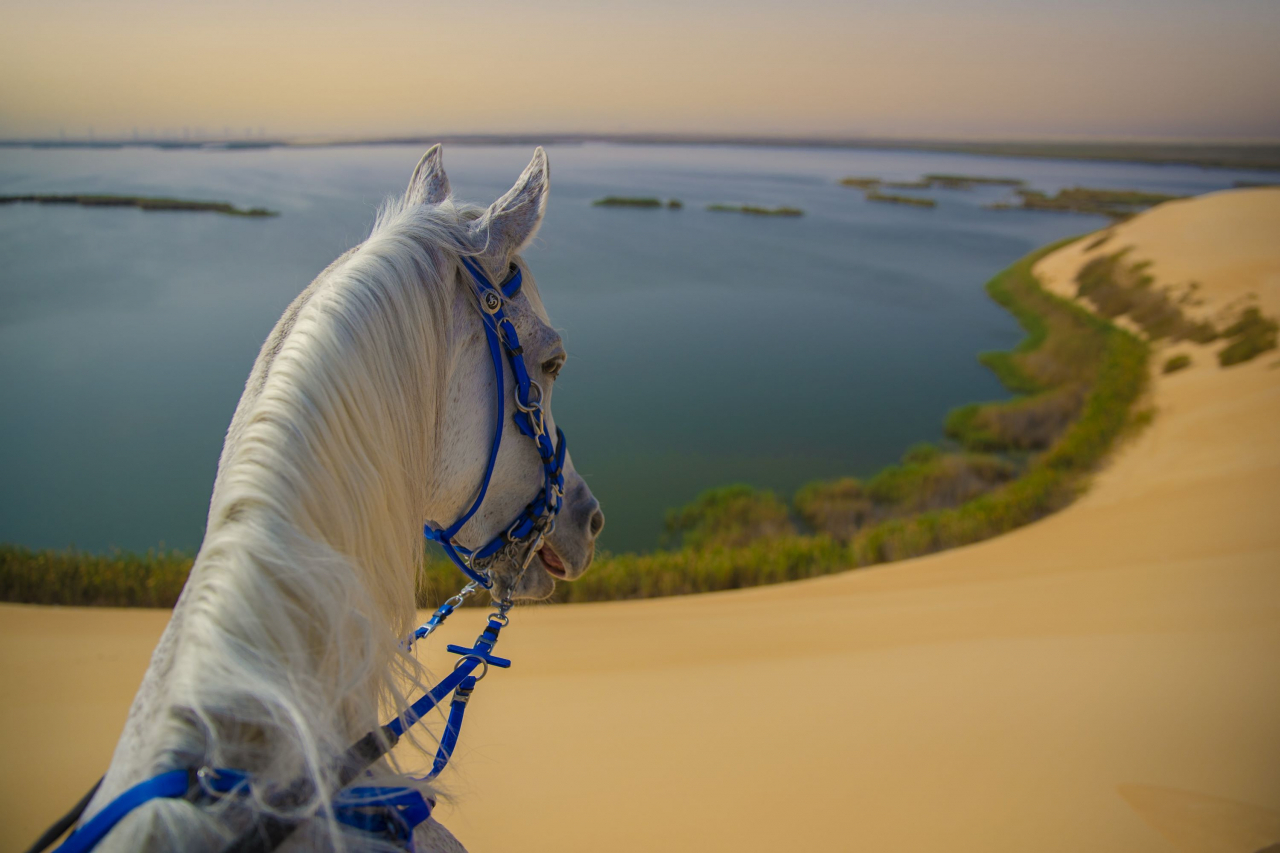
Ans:
<svg viewBox="0 0 1280 853"><path fill-rule="evenodd" d="M1280 314L1280 192L1125 228L1179 269L1187 241L1151 223L1240 210L1272 245L1235 266L1240 229L1219 228L1187 274ZM1155 424L1084 500L1001 539L786 587L518 612L502 649L516 667L477 692L442 820L474 850L1280 841L1280 353L1198 361L1157 380ZM105 766L165 616L0 608L4 849ZM477 624L456 619L451 640Z"/></svg>

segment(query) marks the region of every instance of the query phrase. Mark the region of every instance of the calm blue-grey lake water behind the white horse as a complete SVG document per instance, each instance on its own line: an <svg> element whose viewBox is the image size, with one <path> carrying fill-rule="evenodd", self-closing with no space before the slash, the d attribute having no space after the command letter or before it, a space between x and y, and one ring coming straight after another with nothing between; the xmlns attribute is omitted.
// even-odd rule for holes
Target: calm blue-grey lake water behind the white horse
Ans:
<svg viewBox="0 0 1280 853"><path fill-rule="evenodd" d="M358 242L417 149L0 151L0 193L120 192L282 211L0 207L0 540L200 543L223 433L284 306ZM452 147L454 191L488 204L531 149ZM529 252L570 362L556 418L608 515L608 548L657 543L664 510L733 482L790 493L865 475L1002 396L974 356L1019 332L983 283L1101 219L987 211L998 188L924 210L865 202L846 174L1011 175L1204 192L1244 172L924 152L552 147ZM594 209L603 195L685 210ZM796 205L800 219L703 210Z"/></svg>

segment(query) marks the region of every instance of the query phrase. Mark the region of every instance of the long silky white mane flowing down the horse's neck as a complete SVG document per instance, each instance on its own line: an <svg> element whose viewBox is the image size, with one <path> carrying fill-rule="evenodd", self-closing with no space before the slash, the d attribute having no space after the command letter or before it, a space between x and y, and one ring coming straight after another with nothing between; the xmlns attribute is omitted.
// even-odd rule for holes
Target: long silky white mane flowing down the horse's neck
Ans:
<svg viewBox="0 0 1280 853"><path fill-rule="evenodd" d="M416 613L454 259L474 254L481 213L388 201L262 346L175 610L163 707L180 712L156 721L168 749L155 770L250 770L262 811L279 807L262 792L307 779L316 793L297 811L325 812L337 758L424 683L399 643Z"/></svg>

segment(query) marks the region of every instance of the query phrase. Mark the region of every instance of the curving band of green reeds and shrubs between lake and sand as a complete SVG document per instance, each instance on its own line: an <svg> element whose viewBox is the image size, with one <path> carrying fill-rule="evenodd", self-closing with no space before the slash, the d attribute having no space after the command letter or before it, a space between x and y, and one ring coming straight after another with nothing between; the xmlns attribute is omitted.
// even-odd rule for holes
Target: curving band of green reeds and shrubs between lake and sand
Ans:
<svg viewBox="0 0 1280 853"><path fill-rule="evenodd" d="M1033 264L1065 242L1024 257L987 286L1027 338L983 361L1023 396L960 410L969 412L959 435L969 450L916 446L901 464L865 482L810 483L790 506L745 485L714 489L668 514L668 549L602 553L582 579L557 587L556 601L650 598L813 578L978 542L1069 503L1116 439L1143 420L1133 409L1146 384L1148 348L1039 287ZM1240 337L1256 334L1260 321L1243 323ZM955 414L948 426L952 419ZM979 452L987 450L1014 453ZM189 565L189 556L178 553L4 547L0 598L169 606ZM443 601L458 584L451 564L429 560L419 578L419 605Z"/></svg>

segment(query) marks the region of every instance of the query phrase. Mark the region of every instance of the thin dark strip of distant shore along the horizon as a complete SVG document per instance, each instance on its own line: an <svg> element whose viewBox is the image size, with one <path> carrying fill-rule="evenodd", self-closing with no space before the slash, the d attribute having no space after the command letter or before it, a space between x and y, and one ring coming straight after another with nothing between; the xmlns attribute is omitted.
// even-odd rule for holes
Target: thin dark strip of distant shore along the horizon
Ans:
<svg viewBox="0 0 1280 853"><path fill-rule="evenodd" d="M348 137L348 138L244 138L244 140L0 140L0 147L20 149L123 149L163 150L206 149L250 151L274 147L335 147L365 145L581 145L614 142L625 145L735 145L760 147L864 149L887 151L936 151L1002 158L1052 160L1110 160L1161 165L1197 165L1222 169L1280 172L1280 142L1079 142L1079 141L986 141L835 138L787 136L714 136L680 133L443 133L434 136Z"/></svg>

